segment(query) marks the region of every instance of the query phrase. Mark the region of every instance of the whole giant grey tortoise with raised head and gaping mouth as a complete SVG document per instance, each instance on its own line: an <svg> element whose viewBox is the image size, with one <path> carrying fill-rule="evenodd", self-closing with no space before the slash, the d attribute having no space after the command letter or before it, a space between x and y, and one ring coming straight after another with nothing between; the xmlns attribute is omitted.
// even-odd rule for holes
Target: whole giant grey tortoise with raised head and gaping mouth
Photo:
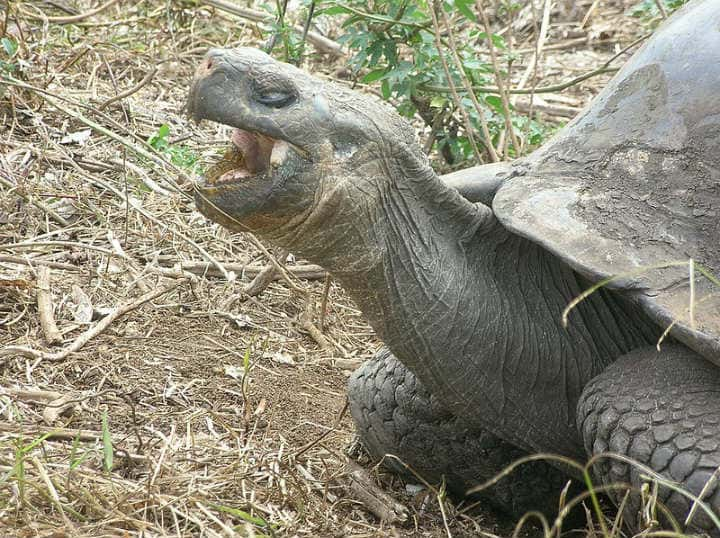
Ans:
<svg viewBox="0 0 720 538"><path fill-rule="evenodd" d="M234 131L196 203L367 316L386 347L349 396L372 454L456 492L523 454L598 455L603 484L657 473L660 507L717 533L719 58L720 3L691 2L541 149L441 178L376 99L212 50L188 109ZM547 510L566 472L535 462L491 497Z"/></svg>

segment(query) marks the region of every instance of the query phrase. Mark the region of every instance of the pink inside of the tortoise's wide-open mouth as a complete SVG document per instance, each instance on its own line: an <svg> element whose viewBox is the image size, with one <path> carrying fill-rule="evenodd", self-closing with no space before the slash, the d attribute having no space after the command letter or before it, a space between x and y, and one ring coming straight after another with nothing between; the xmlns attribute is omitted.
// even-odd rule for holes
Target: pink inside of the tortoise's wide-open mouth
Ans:
<svg viewBox="0 0 720 538"><path fill-rule="evenodd" d="M241 183L249 178L270 177L285 162L290 144L285 140L234 129L231 144L220 161L204 174L207 185Z"/></svg>

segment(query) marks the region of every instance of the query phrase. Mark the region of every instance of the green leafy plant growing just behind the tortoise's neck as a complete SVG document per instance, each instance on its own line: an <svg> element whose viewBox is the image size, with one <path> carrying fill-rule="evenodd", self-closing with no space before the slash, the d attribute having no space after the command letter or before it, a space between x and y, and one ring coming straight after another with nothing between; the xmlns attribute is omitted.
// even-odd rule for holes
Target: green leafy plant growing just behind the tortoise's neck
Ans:
<svg viewBox="0 0 720 538"><path fill-rule="evenodd" d="M392 99L400 114L422 118L431 129L434 148L449 164L459 164L473 157L462 111L449 91L450 82L458 90L461 107L467 113L474 133L481 131L484 120L492 144L497 146L506 127L500 97L478 93L482 106L478 110L463 90L462 78L472 86L495 85L493 66L478 54L478 51L487 50L487 36L478 25L474 5L473 0L448 0L443 4L454 21L453 32L457 33L459 43L456 50L460 68L447 52L448 47L443 46L450 81L436 46L429 2L375 0L368 4L347 0L330 2L321 10L326 16L344 17L344 34L339 41L353 53L349 67L356 77L366 84L379 84L382 96ZM512 11L518 6L507 4L504 9ZM503 37L490 37L503 65L509 65L514 58ZM513 128L523 137L526 148L541 143L547 135L548 129L544 125L516 113L512 106L510 116ZM487 152L488 148L484 149ZM514 152L515 148L510 148L510 153Z"/></svg>

